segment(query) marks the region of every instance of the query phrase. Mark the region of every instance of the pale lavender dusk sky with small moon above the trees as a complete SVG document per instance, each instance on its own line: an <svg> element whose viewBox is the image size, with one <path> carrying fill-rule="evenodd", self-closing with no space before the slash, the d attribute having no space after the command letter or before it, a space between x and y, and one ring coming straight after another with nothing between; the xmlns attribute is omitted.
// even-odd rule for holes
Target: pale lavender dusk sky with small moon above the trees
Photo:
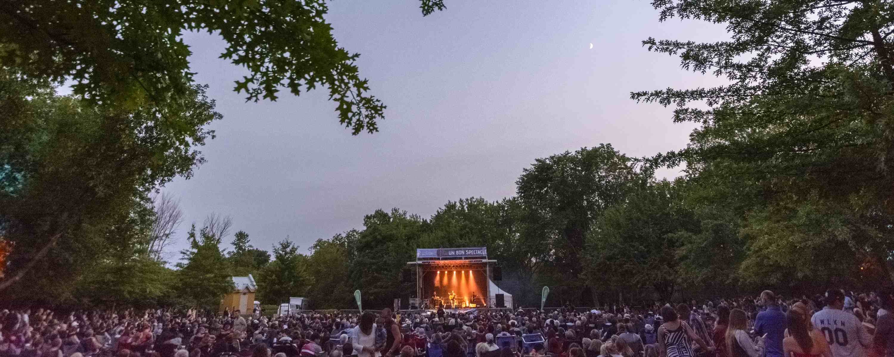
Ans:
<svg viewBox="0 0 894 357"><path fill-rule="evenodd" d="M329 4L335 37L361 54L361 77L388 105L379 132L351 136L325 88L245 103L232 91L245 71L217 58L223 40L186 37L195 79L210 85L223 120L211 127L217 137L201 148L208 162L195 177L163 188L186 219L172 253L211 212L232 216L232 232L245 230L256 247L291 236L308 253L317 238L363 228L376 209L429 218L448 200L515 195L536 158L601 143L631 156L679 149L694 126L629 93L721 83L640 42L715 41L724 29L658 22L646 0L446 0L427 17L417 0Z"/></svg>

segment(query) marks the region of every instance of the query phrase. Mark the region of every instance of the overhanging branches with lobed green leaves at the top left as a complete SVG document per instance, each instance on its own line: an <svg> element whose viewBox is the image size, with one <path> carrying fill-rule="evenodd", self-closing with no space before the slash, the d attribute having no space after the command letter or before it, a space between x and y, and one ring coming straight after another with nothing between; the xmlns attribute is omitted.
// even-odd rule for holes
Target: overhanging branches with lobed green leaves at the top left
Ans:
<svg viewBox="0 0 894 357"><path fill-rule="evenodd" d="M424 15L444 8L421 3ZM292 95L328 87L342 125L354 135L375 132L385 105L368 94L359 54L338 46L326 12L325 0L5 2L0 65L35 79L70 78L74 93L94 104L177 111L189 104L195 74L182 36L206 31L226 41L220 58L247 70L233 87L247 101L276 100L281 87ZM156 125L184 129L162 118Z"/></svg>

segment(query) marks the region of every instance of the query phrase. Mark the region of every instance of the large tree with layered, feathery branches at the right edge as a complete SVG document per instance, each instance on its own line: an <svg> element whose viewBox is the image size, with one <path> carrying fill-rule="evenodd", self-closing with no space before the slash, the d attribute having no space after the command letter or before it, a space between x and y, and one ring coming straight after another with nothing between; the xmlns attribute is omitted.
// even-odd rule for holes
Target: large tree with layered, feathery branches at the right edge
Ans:
<svg viewBox="0 0 894 357"><path fill-rule="evenodd" d="M673 120L700 125L687 148L654 161L684 164L705 186L740 183L728 195L753 204L739 207L747 218L742 232L749 237L749 259L766 258L764 253L773 261L805 258L771 243L780 242L782 234L788 246L845 249L856 257L842 262L848 270L868 262L894 279L894 5L835 0L656 0L653 5L661 21L723 23L730 33L730 40L715 43L643 41L649 50L679 55L684 69L730 81L631 94L674 105ZM810 222L820 217L826 220L822 225ZM768 271L755 276L759 270L752 268L757 265L746 263L742 273L769 278Z"/></svg>

